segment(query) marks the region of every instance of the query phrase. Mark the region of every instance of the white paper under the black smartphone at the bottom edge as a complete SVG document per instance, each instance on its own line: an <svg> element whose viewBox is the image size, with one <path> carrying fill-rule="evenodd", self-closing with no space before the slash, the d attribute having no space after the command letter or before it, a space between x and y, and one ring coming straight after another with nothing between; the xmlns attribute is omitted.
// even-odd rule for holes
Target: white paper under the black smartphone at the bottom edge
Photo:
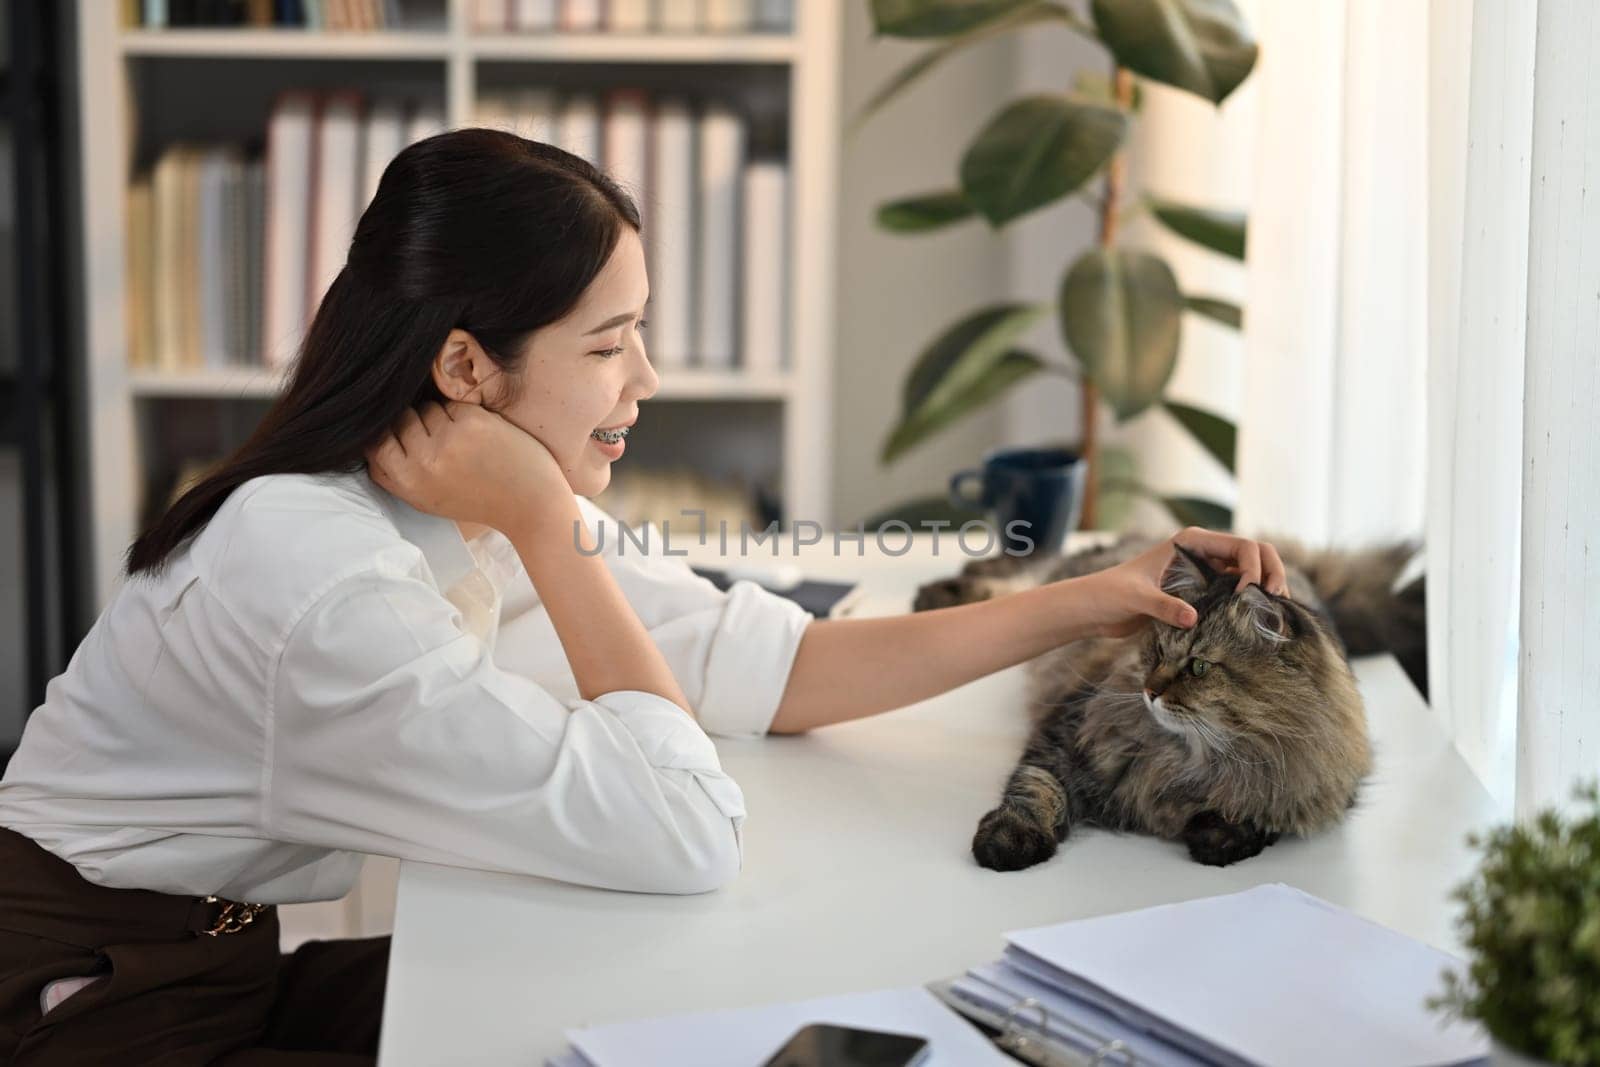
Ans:
<svg viewBox="0 0 1600 1067"><path fill-rule="evenodd" d="M926 990L888 989L568 1030L571 1049L549 1067L755 1067L811 1022L925 1037L925 1067L1016 1062Z"/></svg>

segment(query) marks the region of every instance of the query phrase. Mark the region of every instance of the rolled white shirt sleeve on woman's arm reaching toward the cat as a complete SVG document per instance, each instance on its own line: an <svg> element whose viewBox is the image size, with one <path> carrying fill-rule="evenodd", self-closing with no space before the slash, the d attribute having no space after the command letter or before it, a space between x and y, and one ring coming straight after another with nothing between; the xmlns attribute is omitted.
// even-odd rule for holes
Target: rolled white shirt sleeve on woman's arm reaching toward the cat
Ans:
<svg viewBox="0 0 1600 1067"><path fill-rule="evenodd" d="M765 734L782 701L800 638L814 616L750 581L717 589L677 555L693 533L674 530L666 542L661 528L651 525L648 537L637 528L637 539L619 544L618 522L587 498L579 496L578 502L590 531L605 523L602 558L661 649L701 726L723 737ZM648 552L638 549L640 541ZM677 545L674 555L666 555L670 545ZM506 592L498 638L501 654L512 665L531 662L554 640L549 616L539 608L523 571Z"/></svg>

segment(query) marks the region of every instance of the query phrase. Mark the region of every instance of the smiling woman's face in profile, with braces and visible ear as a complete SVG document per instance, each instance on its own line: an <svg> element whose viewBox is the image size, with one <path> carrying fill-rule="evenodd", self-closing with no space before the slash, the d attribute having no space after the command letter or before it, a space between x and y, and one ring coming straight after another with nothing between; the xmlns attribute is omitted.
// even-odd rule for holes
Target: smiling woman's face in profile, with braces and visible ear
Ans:
<svg viewBox="0 0 1600 1067"><path fill-rule="evenodd" d="M638 402L661 384L640 336L648 296L645 248L632 227L622 227L611 258L571 314L533 334L515 387L475 341L466 346L470 358L454 368L475 374L478 389L462 398L488 400L493 411L550 450L573 493L595 496L610 485L611 462L626 442L602 443L594 430L632 424ZM435 379L440 373L448 378L453 363L442 354L437 366Z"/></svg>

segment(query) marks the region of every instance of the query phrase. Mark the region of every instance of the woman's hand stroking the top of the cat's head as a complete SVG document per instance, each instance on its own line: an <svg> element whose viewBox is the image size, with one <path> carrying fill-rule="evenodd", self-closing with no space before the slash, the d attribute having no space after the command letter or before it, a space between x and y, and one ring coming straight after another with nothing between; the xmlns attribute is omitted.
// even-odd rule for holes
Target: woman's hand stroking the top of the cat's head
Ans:
<svg viewBox="0 0 1600 1067"><path fill-rule="evenodd" d="M1126 563L1074 579L1088 590L1085 608L1090 611L1088 625L1093 633L1128 637L1146 619L1184 629L1198 621L1192 606L1162 589L1162 576L1178 545L1203 557L1222 574L1238 574L1237 589L1254 584L1277 595L1288 593L1283 560L1270 544L1187 526Z"/></svg>

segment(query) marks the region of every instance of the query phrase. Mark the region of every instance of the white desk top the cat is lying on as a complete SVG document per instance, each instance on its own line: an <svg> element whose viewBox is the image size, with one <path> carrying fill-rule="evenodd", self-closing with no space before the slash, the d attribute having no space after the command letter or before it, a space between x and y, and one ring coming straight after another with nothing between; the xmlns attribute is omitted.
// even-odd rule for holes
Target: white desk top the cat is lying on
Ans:
<svg viewBox="0 0 1600 1067"><path fill-rule="evenodd" d="M960 563L926 541L899 558L846 547L802 561L862 574L861 614L907 609L918 582ZM992 960L1010 929L1262 881L1459 952L1446 894L1472 867L1464 835L1498 813L1392 659L1360 661L1357 677L1378 750L1360 806L1334 832L1224 869L1099 830L1030 870L978 867L973 829L1027 731L1019 669L803 737L718 741L750 811L744 870L718 893L403 864L381 1062L542 1065L573 1025L922 984Z"/></svg>

